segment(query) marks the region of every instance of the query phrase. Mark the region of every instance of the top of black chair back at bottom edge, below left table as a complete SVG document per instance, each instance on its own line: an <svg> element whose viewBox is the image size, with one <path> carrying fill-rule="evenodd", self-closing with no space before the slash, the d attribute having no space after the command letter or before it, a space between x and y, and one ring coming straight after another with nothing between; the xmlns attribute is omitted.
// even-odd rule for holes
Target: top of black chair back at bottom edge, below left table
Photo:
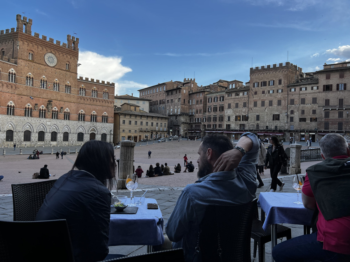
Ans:
<svg viewBox="0 0 350 262"><path fill-rule="evenodd" d="M140 262L140 261L152 261L152 262L184 262L183 249L176 248L171 250L164 250L158 252L152 252L142 255L124 256L116 259L109 259L100 262L113 262L113 261L125 261L125 262Z"/></svg>

